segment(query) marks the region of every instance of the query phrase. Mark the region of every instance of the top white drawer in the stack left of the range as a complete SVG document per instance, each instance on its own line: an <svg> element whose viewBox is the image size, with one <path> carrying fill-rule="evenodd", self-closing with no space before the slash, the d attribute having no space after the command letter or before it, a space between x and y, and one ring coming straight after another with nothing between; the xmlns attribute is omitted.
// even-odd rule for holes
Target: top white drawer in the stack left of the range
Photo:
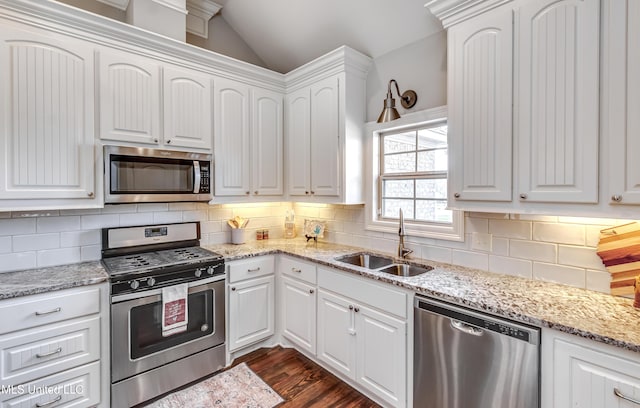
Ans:
<svg viewBox="0 0 640 408"><path fill-rule="evenodd" d="M100 289L72 289L0 302L0 334L100 311Z"/></svg>

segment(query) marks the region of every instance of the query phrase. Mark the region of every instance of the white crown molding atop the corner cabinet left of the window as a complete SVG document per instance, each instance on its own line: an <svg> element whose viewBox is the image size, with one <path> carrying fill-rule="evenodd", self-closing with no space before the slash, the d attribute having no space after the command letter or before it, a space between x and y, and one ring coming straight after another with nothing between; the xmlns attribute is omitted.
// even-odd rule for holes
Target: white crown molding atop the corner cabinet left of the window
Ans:
<svg viewBox="0 0 640 408"><path fill-rule="evenodd" d="M371 62L370 57L343 45L285 74L287 92L344 71L366 79Z"/></svg>

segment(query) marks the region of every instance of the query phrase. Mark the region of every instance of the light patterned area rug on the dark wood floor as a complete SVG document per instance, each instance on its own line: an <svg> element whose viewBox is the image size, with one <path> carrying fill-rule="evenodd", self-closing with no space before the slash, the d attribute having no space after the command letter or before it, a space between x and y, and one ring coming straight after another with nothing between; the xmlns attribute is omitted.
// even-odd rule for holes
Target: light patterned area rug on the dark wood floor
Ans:
<svg viewBox="0 0 640 408"><path fill-rule="evenodd" d="M146 408L271 408L282 401L278 393L242 363Z"/></svg>

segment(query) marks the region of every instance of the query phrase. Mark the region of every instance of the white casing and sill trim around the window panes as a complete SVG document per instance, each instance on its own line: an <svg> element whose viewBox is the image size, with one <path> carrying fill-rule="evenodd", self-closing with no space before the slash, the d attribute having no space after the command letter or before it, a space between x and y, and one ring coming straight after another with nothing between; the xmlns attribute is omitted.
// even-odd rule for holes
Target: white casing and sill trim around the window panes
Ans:
<svg viewBox="0 0 640 408"><path fill-rule="evenodd" d="M366 125L367 140L367 199L365 203L365 228L369 231L398 233L398 222L378 217L380 175L380 138L383 133L435 124L447 120L447 107L441 106L420 112L405 114L400 119L387 123L369 122ZM464 211L452 210L451 224L413 222L405 219L405 233L409 236L464 241Z"/></svg>

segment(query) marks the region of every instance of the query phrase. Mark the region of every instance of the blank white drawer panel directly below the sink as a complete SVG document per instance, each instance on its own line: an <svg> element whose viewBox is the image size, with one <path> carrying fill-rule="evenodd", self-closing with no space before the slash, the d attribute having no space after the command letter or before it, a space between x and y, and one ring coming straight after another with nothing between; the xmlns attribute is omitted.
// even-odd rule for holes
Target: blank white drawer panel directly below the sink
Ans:
<svg viewBox="0 0 640 408"><path fill-rule="evenodd" d="M358 302L407 318L407 294L387 288L371 279L348 276L331 269L318 268L318 286Z"/></svg>

